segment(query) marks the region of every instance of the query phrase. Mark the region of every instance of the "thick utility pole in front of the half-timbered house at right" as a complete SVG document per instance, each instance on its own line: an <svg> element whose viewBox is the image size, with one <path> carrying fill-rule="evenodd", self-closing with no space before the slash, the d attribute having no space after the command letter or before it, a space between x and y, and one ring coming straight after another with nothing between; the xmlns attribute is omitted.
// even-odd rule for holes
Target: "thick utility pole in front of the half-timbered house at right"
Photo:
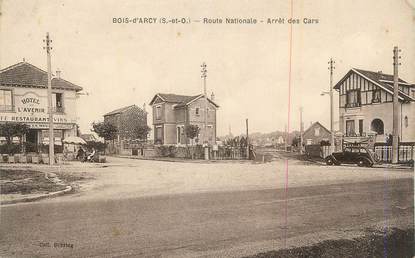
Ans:
<svg viewBox="0 0 415 258"><path fill-rule="evenodd" d="M401 50L398 47L393 48L393 140L392 140L392 163L398 163L399 161L399 76L398 66L399 52Z"/></svg>

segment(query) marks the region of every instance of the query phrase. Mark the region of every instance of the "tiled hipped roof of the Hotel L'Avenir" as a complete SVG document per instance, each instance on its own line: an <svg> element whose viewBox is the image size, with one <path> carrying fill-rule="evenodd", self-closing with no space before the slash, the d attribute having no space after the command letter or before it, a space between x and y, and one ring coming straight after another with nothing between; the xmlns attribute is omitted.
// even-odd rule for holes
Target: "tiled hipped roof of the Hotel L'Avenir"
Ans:
<svg viewBox="0 0 415 258"><path fill-rule="evenodd" d="M82 87L62 78L52 78L51 83L53 89L82 90ZM48 73L27 62L20 62L0 70L0 85L47 88Z"/></svg>

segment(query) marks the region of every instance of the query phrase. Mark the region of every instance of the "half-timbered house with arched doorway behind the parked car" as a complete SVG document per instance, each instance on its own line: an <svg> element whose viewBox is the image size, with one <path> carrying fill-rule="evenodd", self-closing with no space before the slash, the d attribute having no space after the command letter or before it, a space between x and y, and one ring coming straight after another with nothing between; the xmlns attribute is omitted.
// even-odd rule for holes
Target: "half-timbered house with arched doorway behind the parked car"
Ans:
<svg viewBox="0 0 415 258"><path fill-rule="evenodd" d="M340 130L349 138L376 135L385 142L393 129L393 76L351 69L335 86L339 92ZM399 79L401 142L415 142L415 85Z"/></svg>

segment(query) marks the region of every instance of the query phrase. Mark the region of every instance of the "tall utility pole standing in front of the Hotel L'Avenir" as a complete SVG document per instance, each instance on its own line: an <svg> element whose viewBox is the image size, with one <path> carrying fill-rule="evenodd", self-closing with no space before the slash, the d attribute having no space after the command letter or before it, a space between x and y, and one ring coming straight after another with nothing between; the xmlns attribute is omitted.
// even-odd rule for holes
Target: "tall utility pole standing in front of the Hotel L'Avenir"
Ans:
<svg viewBox="0 0 415 258"><path fill-rule="evenodd" d="M46 46L43 47L46 49L46 56L47 56L47 65L48 65L48 112L49 112L49 165L53 165L55 163L55 137L53 133L53 109L52 109L52 68L51 68L51 61L50 61L50 51L52 47L50 44L52 40L49 38L49 32L46 33L46 40L43 40L46 43Z"/></svg>

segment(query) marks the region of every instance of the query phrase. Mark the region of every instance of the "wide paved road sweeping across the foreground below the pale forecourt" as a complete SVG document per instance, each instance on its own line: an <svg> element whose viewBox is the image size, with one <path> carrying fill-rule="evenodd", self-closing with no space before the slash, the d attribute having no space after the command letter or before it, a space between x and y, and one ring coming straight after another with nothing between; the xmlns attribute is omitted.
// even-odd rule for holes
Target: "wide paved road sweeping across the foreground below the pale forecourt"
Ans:
<svg viewBox="0 0 415 258"><path fill-rule="evenodd" d="M322 169L326 168L313 168ZM98 184L90 194L2 207L0 255L240 257L352 238L365 228L410 227L412 173L393 172L401 176L386 180L383 172L377 173L372 180L324 185L295 184L291 178L288 189L256 185L257 189L245 190L90 198L101 196L100 191L108 196ZM109 193L116 195L120 189Z"/></svg>

